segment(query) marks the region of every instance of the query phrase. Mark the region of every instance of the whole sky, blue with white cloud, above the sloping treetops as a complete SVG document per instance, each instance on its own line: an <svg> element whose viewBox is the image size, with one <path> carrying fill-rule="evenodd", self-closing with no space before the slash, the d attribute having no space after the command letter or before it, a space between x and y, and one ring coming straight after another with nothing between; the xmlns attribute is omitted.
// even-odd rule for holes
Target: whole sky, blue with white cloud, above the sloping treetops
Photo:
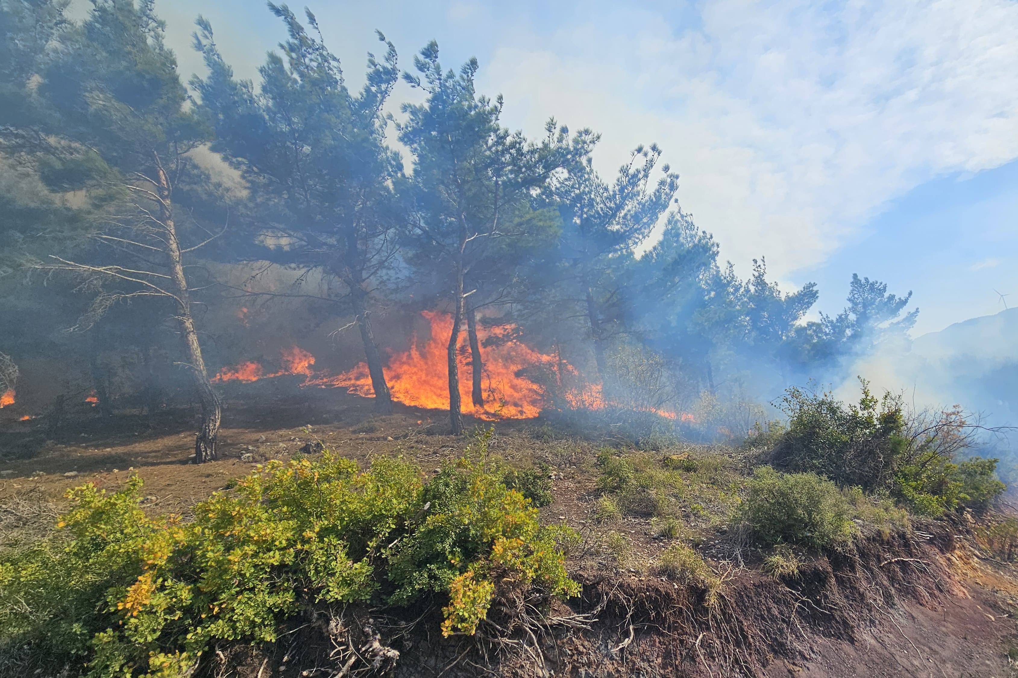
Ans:
<svg viewBox="0 0 1018 678"><path fill-rule="evenodd" d="M604 136L610 174L658 142L679 198L745 274L765 255L837 312L853 272L912 290L915 333L1018 305L1018 3L312 1L358 82L383 30L409 67L436 39L480 61L504 121ZM302 3L293 3L298 10ZM283 37L258 0L157 0L184 74L205 14L238 74ZM414 100L402 87L396 100Z"/></svg>

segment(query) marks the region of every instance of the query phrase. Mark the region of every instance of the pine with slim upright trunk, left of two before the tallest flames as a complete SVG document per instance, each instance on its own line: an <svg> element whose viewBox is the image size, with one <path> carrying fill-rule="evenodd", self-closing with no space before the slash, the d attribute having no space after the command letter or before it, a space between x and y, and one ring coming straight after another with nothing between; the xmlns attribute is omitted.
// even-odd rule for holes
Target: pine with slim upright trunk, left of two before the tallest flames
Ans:
<svg viewBox="0 0 1018 678"><path fill-rule="evenodd" d="M410 196L415 218L407 234L413 251L408 257L437 269L452 301L449 418L458 435L463 417L456 355L471 293L467 283L492 254L494 241L515 245L525 237L531 199L563 158L554 138L535 144L502 127L501 97L492 102L474 90L475 59L458 75L443 71L438 45L432 42L414 57L414 67L418 75L405 73L404 78L422 89L427 100L404 104L407 120L400 125L399 138L414 161Z"/></svg>

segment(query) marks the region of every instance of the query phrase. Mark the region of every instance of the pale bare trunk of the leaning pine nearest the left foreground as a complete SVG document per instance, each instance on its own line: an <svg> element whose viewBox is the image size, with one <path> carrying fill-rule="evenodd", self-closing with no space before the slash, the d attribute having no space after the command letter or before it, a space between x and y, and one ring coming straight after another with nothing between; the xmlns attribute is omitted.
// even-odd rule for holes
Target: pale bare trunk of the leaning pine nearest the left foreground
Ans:
<svg viewBox="0 0 1018 678"><path fill-rule="evenodd" d="M176 226L173 223L173 203L170 179L163 169L158 153L153 153L159 175L160 212L163 228L166 229L167 255L170 265L170 280L173 282L173 294L177 302L177 324L184 340L187 360L191 370L191 378L202 405L202 426L194 437L194 463L203 464L219 458L216 449L216 439L219 436L219 425L223 417L223 407L219 395L209 380L209 371L202 357L202 345L197 341L197 330L194 328L194 317L190 312L190 301L187 290L187 279L184 276L183 260L180 255L180 242L177 240Z"/></svg>

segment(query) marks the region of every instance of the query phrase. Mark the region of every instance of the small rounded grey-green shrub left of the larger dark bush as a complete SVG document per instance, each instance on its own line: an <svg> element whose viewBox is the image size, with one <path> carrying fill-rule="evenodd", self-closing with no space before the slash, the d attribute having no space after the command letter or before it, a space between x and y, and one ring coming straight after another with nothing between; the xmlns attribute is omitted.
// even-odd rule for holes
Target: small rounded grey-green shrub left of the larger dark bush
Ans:
<svg viewBox="0 0 1018 678"><path fill-rule="evenodd" d="M736 520L760 544L838 547L857 532L848 500L816 474L783 474L761 467L747 487Z"/></svg>

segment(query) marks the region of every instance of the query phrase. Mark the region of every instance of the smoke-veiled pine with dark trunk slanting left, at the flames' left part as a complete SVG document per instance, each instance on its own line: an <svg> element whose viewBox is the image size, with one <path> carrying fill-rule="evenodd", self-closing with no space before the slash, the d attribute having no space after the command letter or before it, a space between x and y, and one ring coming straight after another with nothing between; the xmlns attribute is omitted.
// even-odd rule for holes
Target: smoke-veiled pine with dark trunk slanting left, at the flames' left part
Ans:
<svg viewBox="0 0 1018 678"><path fill-rule="evenodd" d="M395 230L402 221L395 192L402 165L385 143L383 114L399 76L396 51L379 34L385 56L378 61L369 55L365 84L351 93L339 60L321 39L286 5L269 8L286 23L289 40L280 45L283 54L271 53L260 69L259 93L249 81L234 79L206 19L199 18L194 36L209 75L192 84L216 130L212 147L242 173L252 211L273 214L272 241L287 243L259 246L264 229L254 229L238 251L300 270L300 280L312 271L322 275L325 292L317 298L354 316L376 410L390 413L392 396L371 318L375 291L397 255ZM307 21L317 32L309 11Z"/></svg>

